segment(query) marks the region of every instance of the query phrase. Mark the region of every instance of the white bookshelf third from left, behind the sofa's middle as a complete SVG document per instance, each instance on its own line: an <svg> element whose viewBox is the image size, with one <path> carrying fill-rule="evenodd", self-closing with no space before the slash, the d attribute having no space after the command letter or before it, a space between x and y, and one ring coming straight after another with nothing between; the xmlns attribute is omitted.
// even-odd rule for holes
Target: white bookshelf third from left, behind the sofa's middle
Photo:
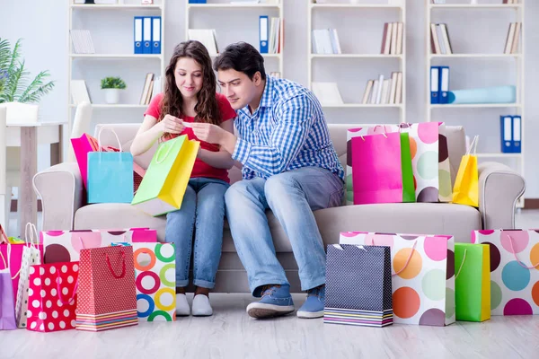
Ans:
<svg viewBox="0 0 539 359"><path fill-rule="evenodd" d="M378 4L372 4L376 3ZM357 66L358 69L367 70L370 68L371 62L376 61L377 63L382 63L388 61L387 66L391 66L394 62L396 65L390 70L389 74L387 71L384 74L384 78L388 78L387 75L391 75L391 72L402 72L402 103L400 104L363 104L361 103L363 92L367 85L368 79L377 79L379 74L376 70L376 66L372 71L369 71L370 76L365 81L361 80L360 83L355 83L356 95L354 97L355 101L346 101L344 100L343 104L324 104L324 109L397 109L398 110L398 122L405 122L406 116L406 2L404 0L386 0L386 3L383 4L380 0L359 0L359 4L351 4L347 2L336 3L336 4L314 4L314 0L309 0L307 6L307 81L308 87L313 90L313 83L318 80L314 75L314 67L318 66L327 66L328 68L339 68L341 61L356 61L354 66ZM391 3L391 4L388 4ZM335 19L339 19L340 16L346 15L354 16L355 13L373 13L373 17L378 17L377 15L382 12L384 14L384 20L379 20L376 22L376 30L379 30L379 36L376 36L373 41L376 42L376 46L371 47L373 50L365 51L362 53L356 51L349 53L346 51L346 48L342 48L342 41L349 37L349 34L345 31L340 31L338 21L335 22ZM396 16L395 16L396 13ZM337 29L342 53L341 54L314 54L313 53L313 30L323 29L326 26L321 26L318 23L314 23L315 19L331 19L333 23L336 23L335 29ZM390 20L391 19L391 20ZM382 44L382 38L384 33L384 23L385 22L402 22L402 54L401 55L384 55L380 54L380 46ZM358 38L361 38L361 34L358 33ZM393 62L392 62L393 61ZM333 80L330 80L334 82ZM341 89L341 83L338 83L339 88ZM344 96L343 96L344 97Z"/></svg>

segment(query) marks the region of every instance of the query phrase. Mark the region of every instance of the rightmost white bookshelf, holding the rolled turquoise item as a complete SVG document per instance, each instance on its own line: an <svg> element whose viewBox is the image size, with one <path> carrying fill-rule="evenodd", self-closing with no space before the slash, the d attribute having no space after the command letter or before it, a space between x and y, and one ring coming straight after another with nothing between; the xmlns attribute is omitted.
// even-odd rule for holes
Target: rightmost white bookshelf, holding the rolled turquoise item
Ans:
<svg viewBox="0 0 539 359"><path fill-rule="evenodd" d="M505 161L508 160L511 163L513 163L513 167L516 171L518 171L523 177L524 177L524 159L525 159L525 147L526 147L526 118L525 118L525 104L524 104L524 62L525 62L525 0L519 0L519 4L494 4L487 3L488 0L479 0L480 4L430 4L430 0L425 0L426 9L427 9L427 15L426 15L426 24L425 24L425 31L427 36L426 42L425 42L425 48L426 48L426 103L427 103L427 121L437 121L445 118L446 112L444 109L462 109L464 111L474 111L473 114L481 113L482 111L490 111L494 109L499 109L498 116L492 116L492 118L489 118L489 121L484 122L485 127L495 127L499 128L499 116L500 115L519 115L522 117L521 121L521 153L502 153L500 150L499 152L488 152L488 153L477 153L477 157L480 160L485 161ZM481 4L483 2L483 4ZM499 1L501 3L501 0ZM432 54L431 53L431 45L430 45L430 23L436 23L436 21L433 21L433 17L437 13L467 13L467 12L473 12L475 16L477 16L478 19L481 19L482 11L488 11L489 13L493 11L499 11L499 12L508 12L511 16L511 20L507 20L507 22L501 22L498 23L501 28L506 31L505 36L502 38L496 38L492 39L492 41L496 41L495 43L499 43L499 53L456 53L456 54L450 54L450 55L441 55L441 54ZM522 27L520 30L520 43L519 43L519 49L520 51L517 54L504 54L503 48L501 48L501 45L503 45L504 40L506 40L507 37L507 29L508 24L510 22L522 22ZM480 25L480 22L477 22L478 26L489 26L489 24L486 21L482 21L482 25ZM455 51L455 42L458 42L461 39L456 39L455 37L451 36L451 30L449 30L449 36L452 41L452 47ZM430 103L430 66L447 66L448 63L442 63L440 61L445 60L453 60L457 59L458 63L452 62L452 66L458 66L458 67L464 67L466 66L466 61L468 60L480 60L483 62L484 66L489 66L490 62L498 61L498 60L506 60L508 61L508 64L510 66L515 67L515 86L517 88L517 101L515 103L477 103L477 104L431 104ZM433 63L436 62L436 63ZM450 78L453 74L450 66ZM499 71L499 70L498 70ZM461 70L462 75L462 70ZM451 80L449 84L449 91L452 90L451 87ZM436 111L436 112L434 112ZM434 114L433 114L434 112ZM463 112L464 113L464 112ZM473 118L474 119L474 118ZM470 120L473 119L467 119L464 120L463 123L461 123L462 126L464 126L464 129L466 128L466 125L470 126ZM479 118L477 118L479 120ZM491 121L490 121L491 120ZM476 125L476 124L473 124ZM499 132L497 132L499 133ZM468 136L473 136L474 134L467 133ZM480 135L480 141L481 141L481 134ZM501 136L501 134L499 134ZM497 138L498 143L500 142L500 139ZM498 147L499 148L499 147ZM524 198L520 198L519 202L517 203L517 207L523 207L524 206Z"/></svg>

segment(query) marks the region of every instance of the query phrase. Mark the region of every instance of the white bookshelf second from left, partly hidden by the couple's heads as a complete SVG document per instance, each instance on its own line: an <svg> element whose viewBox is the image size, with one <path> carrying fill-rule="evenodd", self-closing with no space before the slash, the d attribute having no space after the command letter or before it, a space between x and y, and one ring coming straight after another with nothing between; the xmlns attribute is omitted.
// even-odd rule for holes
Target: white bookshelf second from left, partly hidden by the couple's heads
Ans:
<svg viewBox="0 0 539 359"><path fill-rule="evenodd" d="M254 48L260 50L259 37L259 16L268 15L269 17L278 17L284 19L284 0L261 0L261 3L252 4L231 4L229 0L208 0L207 4L189 4L185 0L185 38L189 38L190 29L216 29L216 40L218 51L221 52L231 43L246 41ZM241 15L240 15L241 14ZM243 16L242 20L234 22L230 16ZM205 17L202 21L197 21L197 17ZM223 21L223 18L227 19ZM209 21L208 19L211 19ZM225 27L222 25L225 24ZM231 27L238 28L234 32ZM250 32L244 29L252 29ZM279 32L279 42L281 44L280 52L277 54L261 54L264 57L266 73L279 72L284 76L283 52L284 31ZM216 55L211 56L212 59ZM271 61L268 64L268 60ZM275 65L277 62L277 65Z"/></svg>

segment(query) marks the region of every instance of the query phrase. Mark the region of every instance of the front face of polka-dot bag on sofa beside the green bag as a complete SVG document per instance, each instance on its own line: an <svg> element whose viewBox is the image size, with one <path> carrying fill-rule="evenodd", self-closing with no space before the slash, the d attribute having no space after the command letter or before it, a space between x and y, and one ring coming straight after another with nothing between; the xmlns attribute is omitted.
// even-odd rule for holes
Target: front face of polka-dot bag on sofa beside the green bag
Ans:
<svg viewBox="0 0 539 359"><path fill-rule="evenodd" d="M410 136L411 167L417 202L438 202L438 124L401 124Z"/></svg>

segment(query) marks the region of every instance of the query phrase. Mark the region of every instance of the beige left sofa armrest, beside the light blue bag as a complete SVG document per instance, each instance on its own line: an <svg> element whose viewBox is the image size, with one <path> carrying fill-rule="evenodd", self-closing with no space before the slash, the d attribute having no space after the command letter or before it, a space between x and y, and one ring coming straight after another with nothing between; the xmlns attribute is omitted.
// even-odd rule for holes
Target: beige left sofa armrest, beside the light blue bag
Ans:
<svg viewBox="0 0 539 359"><path fill-rule="evenodd" d="M43 206L43 231L73 229L75 212L84 206L84 185L76 162L63 162L40 171L33 187Z"/></svg>

